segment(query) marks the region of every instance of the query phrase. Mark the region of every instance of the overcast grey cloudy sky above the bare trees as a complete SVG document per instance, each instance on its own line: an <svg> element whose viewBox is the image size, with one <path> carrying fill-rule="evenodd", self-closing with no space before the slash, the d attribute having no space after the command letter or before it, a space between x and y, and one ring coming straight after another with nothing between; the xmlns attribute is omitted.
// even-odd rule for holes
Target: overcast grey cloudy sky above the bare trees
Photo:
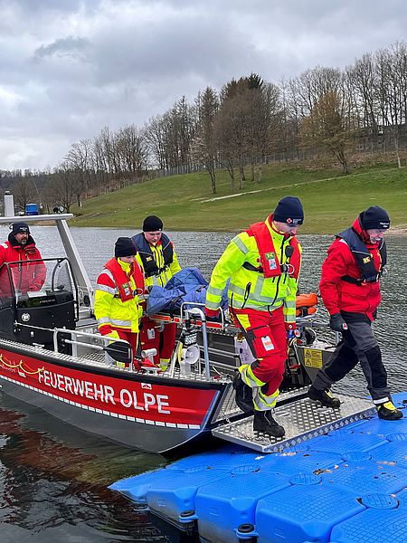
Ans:
<svg viewBox="0 0 407 543"><path fill-rule="evenodd" d="M406 0L0 0L0 169L251 71L278 83L402 41Z"/></svg>

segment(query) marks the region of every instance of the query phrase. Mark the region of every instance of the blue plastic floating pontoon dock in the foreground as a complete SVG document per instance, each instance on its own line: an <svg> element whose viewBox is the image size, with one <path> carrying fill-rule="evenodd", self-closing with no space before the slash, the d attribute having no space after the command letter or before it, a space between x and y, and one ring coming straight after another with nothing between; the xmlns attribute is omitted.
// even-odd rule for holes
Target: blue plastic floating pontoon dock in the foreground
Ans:
<svg viewBox="0 0 407 543"><path fill-rule="evenodd" d="M203 542L407 543L407 393L371 418L279 452L228 444L111 489Z"/></svg>

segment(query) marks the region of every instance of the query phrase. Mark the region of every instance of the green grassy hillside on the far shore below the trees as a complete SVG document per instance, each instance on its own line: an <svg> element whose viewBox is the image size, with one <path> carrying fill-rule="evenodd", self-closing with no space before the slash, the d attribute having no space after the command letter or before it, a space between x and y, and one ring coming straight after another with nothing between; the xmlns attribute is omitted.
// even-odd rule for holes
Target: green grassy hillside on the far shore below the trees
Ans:
<svg viewBox="0 0 407 543"><path fill-rule="evenodd" d="M234 193L224 171L218 173L216 195L204 172L128 186L72 208L76 216L70 224L138 230L145 216L156 214L166 230L234 232L264 219L284 195L303 202L301 233L336 233L369 205L383 206L392 226L407 228L406 167L366 167L342 176L336 170L279 165L263 167L260 184L245 181Z"/></svg>

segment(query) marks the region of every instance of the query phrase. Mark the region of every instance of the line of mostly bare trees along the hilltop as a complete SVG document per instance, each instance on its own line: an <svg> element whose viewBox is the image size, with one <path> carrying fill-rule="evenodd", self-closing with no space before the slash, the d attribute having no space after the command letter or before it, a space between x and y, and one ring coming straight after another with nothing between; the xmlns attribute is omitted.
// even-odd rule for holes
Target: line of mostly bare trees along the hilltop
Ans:
<svg viewBox="0 0 407 543"><path fill-rule="evenodd" d="M191 103L183 96L165 113L71 145L50 171L0 170L16 203L46 211L80 205L83 198L141 183L154 176L227 170L232 191L245 168L260 183L261 165L276 157L336 157L344 173L350 152L407 146L407 45L365 53L345 70L320 67L279 84L257 73L207 87Z"/></svg>

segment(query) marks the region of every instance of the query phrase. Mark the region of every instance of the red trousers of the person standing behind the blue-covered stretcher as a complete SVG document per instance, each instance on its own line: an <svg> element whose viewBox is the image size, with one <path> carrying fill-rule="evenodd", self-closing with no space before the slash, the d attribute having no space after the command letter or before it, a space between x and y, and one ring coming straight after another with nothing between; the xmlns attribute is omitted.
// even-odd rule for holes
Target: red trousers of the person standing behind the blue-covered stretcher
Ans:
<svg viewBox="0 0 407 543"><path fill-rule="evenodd" d="M175 348L176 323L168 322L160 331L160 325L149 317L141 319L140 345L142 350L156 349L154 363L156 366L168 365ZM163 369L165 369L163 367Z"/></svg>

